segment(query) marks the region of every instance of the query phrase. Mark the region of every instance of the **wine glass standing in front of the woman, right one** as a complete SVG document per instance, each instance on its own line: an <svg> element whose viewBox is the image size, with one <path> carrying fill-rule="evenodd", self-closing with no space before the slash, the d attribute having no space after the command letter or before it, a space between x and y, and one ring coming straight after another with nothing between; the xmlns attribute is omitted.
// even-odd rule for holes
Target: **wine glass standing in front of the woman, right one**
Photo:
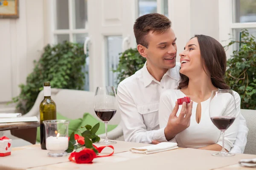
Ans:
<svg viewBox="0 0 256 170"><path fill-rule="evenodd" d="M238 116L236 110L236 99L232 90L214 90L212 91L209 105L209 116L212 123L221 130L222 150L219 153L213 153L213 156L234 156L234 153L228 153L224 148L224 133L233 124Z"/></svg>

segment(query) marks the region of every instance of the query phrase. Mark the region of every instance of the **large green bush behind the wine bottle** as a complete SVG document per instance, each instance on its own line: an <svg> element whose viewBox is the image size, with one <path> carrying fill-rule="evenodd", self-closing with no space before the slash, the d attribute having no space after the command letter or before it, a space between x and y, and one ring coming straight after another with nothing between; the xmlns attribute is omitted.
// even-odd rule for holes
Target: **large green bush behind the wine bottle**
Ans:
<svg viewBox="0 0 256 170"><path fill-rule="evenodd" d="M32 108L44 82L49 81L52 88L82 90L86 57L82 44L66 41L45 46L39 61L34 61L35 68L28 75L26 85L19 85L21 93L13 98L17 111L27 113Z"/></svg>

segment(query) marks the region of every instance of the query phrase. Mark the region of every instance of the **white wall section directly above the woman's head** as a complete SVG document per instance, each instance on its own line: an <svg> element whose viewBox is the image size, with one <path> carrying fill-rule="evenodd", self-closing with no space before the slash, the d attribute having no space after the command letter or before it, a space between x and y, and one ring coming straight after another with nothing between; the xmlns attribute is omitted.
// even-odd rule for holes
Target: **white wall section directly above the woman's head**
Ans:
<svg viewBox="0 0 256 170"><path fill-rule="evenodd" d="M169 0L169 19L177 37L177 57L195 34L219 40L218 0Z"/></svg>

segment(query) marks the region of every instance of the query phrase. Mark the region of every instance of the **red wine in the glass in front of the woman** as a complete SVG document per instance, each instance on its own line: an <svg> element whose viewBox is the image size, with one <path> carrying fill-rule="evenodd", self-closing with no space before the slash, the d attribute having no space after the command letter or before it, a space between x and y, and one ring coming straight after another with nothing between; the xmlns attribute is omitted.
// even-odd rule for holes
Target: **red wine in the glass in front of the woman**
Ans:
<svg viewBox="0 0 256 170"><path fill-rule="evenodd" d="M217 116L217 117L211 117L213 124L219 129L219 130L227 130L232 123L235 121L235 117L230 116Z"/></svg>

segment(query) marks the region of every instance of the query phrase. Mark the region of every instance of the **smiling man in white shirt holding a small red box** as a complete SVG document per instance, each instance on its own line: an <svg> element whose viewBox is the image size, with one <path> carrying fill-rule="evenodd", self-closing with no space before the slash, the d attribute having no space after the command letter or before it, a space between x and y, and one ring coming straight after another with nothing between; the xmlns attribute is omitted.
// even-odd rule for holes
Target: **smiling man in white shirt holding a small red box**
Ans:
<svg viewBox="0 0 256 170"><path fill-rule="evenodd" d="M177 45L171 21L161 14L146 14L134 23L137 49L147 61L142 69L119 83L117 99L125 141L153 143L172 141L177 133L189 127L191 105L183 103L169 116L165 128L159 129L160 95L167 89L177 89L180 63L176 62ZM248 128L241 116L239 133L231 152L243 153Z"/></svg>

